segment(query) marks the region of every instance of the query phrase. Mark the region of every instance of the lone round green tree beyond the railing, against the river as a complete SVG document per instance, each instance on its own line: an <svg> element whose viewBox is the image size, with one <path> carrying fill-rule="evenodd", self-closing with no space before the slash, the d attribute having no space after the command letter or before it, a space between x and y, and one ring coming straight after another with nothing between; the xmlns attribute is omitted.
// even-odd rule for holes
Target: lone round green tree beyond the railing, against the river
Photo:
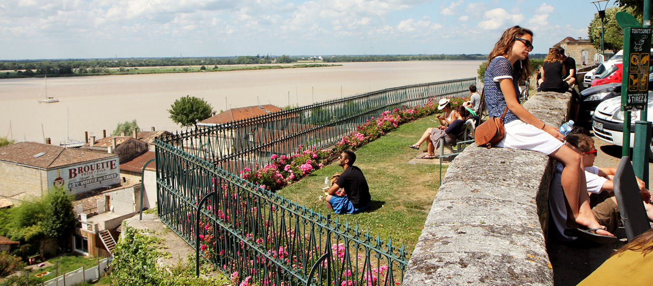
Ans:
<svg viewBox="0 0 653 286"><path fill-rule="evenodd" d="M190 127L199 121L210 118L213 112L211 104L204 101L204 99L191 97L190 95L177 99L170 105L170 108L168 109L170 119L174 123L182 125L182 127Z"/></svg>

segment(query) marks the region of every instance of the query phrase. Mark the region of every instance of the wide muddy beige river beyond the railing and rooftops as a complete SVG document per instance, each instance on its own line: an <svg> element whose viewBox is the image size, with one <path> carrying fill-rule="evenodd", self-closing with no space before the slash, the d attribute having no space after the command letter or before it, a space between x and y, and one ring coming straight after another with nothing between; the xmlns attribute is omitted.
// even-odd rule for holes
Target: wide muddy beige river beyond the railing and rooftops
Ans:
<svg viewBox="0 0 653 286"><path fill-rule="evenodd" d="M342 63L338 67L257 71L74 76L0 80L0 136L52 144L101 138L136 119L144 131L181 130L167 110L185 95L204 98L216 112L257 104L306 105L387 87L476 76L481 61Z"/></svg>

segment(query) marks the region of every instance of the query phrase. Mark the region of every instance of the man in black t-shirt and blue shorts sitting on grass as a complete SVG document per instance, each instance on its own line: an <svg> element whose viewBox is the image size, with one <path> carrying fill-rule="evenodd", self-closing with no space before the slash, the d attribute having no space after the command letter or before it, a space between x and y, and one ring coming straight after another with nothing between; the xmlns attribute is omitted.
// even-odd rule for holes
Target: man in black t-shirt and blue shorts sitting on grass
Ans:
<svg viewBox="0 0 653 286"><path fill-rule="evenodd" d="M356 214L370 208L370 187L360 168L353 166L356 154L351 150L340 153L340 163L343 168L340 178L331 185L327 193L327 206L336 214ZM338 196L336 191L345 189L345 195Z"/></svg>

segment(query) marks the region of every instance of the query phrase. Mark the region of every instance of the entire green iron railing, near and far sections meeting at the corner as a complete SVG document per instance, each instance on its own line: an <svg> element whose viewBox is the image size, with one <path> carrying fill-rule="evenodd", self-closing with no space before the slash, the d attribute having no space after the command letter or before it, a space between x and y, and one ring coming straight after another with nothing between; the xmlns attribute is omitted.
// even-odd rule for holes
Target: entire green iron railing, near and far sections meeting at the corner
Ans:
<svg viewBox="0 0 653 286"><path fill-rule="evenodd" d="M385 110L466 96L470 84L473 78L384 89L157 139L159 217L238 283L401 283L403 244L395 247L390 238L313 212L236 174L265 165L272 154L290 155L300 144L334 144Z"/></svg>

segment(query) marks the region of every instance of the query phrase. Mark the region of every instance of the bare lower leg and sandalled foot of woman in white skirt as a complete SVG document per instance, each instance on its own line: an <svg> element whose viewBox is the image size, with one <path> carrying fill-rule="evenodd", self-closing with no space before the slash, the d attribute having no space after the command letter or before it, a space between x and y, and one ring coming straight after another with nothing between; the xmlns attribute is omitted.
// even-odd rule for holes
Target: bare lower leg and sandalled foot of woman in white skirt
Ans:
<svg viewBox="0 0 653 286"><path fill-rule="evenodd" d="M581 155L567 146L562 146L549 156L564 165L561 180L562 189L567 202L569 202L574 221L588 229L603 227L596 221L596 217L594 217L590 208L590 201L587 196L587 180L585 179L585 172L581 169ZM606 230L598 230L596 233L611 235Z"/></svg>

